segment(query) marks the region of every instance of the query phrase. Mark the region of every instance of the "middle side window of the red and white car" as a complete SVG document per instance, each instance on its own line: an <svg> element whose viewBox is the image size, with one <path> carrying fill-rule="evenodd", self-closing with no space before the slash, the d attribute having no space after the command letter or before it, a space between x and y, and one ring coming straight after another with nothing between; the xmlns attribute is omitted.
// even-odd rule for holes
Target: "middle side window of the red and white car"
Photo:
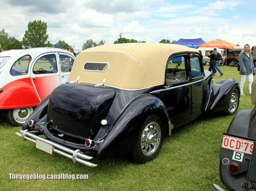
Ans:
<svg viewBox="0 0 256 191"><path fill-rule="evenodd" d="M57 63L55 54L47 54L36 60L33 66L34 74L57 73Z"/></svg>

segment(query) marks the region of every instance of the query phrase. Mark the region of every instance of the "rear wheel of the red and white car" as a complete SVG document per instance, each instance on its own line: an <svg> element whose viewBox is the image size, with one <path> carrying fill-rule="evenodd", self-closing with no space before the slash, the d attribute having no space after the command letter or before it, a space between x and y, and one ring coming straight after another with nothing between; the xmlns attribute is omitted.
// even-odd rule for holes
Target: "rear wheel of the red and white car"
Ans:
<svg viewBox="0 0 256 191"><path fill-rule="evenodd" d="M7 113L8 120L14 126L22 126L27 118L33 112L33 108L18 108L18 109L9 109Z"/></svg>

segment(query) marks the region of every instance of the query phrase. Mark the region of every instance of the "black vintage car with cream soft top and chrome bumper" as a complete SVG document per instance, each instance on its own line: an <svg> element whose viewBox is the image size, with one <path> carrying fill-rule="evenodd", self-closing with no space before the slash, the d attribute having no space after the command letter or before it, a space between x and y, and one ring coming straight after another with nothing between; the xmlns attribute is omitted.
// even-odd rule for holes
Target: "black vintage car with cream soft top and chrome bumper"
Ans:
<svg viewBox="0 0 256 191"><path fill-rule="evenodd" d="M201 54L180 45L86 49L76 57L68 81L16 134L90 167L97 166L89 162L94 156L126 152L138 163L152 160L164 134L205 112L234 114L240 99L236 80L213 83Z"/></svg>

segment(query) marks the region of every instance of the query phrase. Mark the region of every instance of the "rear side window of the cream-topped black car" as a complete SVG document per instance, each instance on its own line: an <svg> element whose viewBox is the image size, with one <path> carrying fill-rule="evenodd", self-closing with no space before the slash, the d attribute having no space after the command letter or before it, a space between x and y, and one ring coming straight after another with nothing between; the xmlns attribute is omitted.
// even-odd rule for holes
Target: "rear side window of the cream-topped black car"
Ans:
<svg viewBox="0 0 256 191"><path fill-rule="evenodd" d="M172 58L169 61L166 69L167 84L183 82L188 79L187 72L185 70L186 60L187 58L185 56L180 56Z"/></svg>

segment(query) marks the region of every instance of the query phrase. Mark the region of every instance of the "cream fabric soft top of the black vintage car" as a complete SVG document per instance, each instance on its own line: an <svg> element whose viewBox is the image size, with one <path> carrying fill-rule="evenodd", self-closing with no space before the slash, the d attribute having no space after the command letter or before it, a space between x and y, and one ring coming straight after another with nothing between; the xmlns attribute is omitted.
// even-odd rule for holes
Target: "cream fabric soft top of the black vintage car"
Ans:
<svg viewBox="0 0 256 191"><path fill-rule="evenodd" d="M130 43L101 45L89 48L76 57L68 81L98 84L123 90L139 90L164 83L168 57L173 53L197 52L174 44ZM84 70L86 62L109 63L105 72Z"/></svg>

